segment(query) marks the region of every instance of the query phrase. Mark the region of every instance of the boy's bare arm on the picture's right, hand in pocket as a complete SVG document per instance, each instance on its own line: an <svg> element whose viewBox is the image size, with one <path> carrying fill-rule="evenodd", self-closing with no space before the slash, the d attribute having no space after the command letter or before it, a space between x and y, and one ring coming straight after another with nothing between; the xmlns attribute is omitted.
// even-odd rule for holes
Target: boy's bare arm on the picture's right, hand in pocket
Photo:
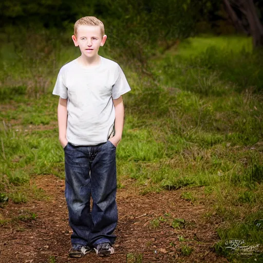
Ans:
<svg viewBox="0 0 263 263"><path fill-rule="evenodd" d="M122 96L120 96L116 100L113 100L113 103L115 107L115 136L110 138L109 140L117 147L122 137L124 124L124 105Z"/></svg>

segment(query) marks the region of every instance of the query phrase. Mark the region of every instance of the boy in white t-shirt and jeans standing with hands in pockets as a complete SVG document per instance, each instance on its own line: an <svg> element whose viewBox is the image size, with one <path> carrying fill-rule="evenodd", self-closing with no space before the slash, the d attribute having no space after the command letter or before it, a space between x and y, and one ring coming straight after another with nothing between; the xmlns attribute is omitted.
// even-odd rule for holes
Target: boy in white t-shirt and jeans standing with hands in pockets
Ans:
<svg viewBox="0 0 263 263"><path fill-rule="evenodd" d="M130 90L120 66L98 54L107 36L94 16L80 18L72 40L81 56L64 65L53 94L58 106L59 141L65 152L65 197L71 235L70 257L114 253L117 226L116 147ZM90 212L90 197L93 204Z"/></svg>

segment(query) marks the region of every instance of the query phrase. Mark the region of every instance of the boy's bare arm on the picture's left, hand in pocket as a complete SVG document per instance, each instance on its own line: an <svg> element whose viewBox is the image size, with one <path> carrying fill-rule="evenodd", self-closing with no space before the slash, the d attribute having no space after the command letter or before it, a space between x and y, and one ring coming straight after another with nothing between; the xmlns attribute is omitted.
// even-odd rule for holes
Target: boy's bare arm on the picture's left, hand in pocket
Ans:
<svg viewBox="0 0 263 263"><path fill-rule="evenodd" d="M67 99L60 98L59 106L58 106L59 141L63 148L68 143L66 138L67 119L68 119Z"/></svg>

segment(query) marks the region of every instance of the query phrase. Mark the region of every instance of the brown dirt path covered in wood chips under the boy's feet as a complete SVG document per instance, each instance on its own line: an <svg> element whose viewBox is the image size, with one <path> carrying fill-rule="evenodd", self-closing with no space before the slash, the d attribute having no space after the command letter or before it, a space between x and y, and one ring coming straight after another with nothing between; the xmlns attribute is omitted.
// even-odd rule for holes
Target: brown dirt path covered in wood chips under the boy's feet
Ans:
<svg viewBox="0 0 263 263"><path fill-rule="evenodd" d="M194 205L181 199L182 190L159 194L136 194L134 187L120 189L117 194L119 222L114 255L101 258L95 253L80 259L68 257L71 230L64 198L64 180L55 176L37 176L34 179L50 196L49 201L14 204L9 201L0 213L5 218L29 210L35 220L18 221L1 227L0 262L228 262L218 257L211 246L218 241L215 225L204 223L201 214L208 203ZM161 218L160 218L161 217ZM159 226L157 221L159 220ZM180 229L171 227L173 218L184 218ZM155 222L155 223L153 223ZM154 228L155 226L155 228ZM183 236L186 241L179 241ZM183 255L180 248L187 244L194 250ZM130 258L127 259L127 254ZM137 258L142 256L142 261Z"/></svg>

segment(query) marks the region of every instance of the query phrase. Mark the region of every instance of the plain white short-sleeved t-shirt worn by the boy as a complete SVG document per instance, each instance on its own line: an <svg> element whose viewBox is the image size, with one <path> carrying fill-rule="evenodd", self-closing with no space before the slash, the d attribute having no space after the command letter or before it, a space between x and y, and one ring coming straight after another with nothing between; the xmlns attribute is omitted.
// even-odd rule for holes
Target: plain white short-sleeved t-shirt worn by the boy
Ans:
<svg viewBox="0 0 263 263"><path fill-rule="evenodd" d="M130 91L121 67L101 57L98 66L85 68L77 59L59 72L53 95L67 99L67 140L74 145L106 142L114 132L118 99Z"/></svg>

